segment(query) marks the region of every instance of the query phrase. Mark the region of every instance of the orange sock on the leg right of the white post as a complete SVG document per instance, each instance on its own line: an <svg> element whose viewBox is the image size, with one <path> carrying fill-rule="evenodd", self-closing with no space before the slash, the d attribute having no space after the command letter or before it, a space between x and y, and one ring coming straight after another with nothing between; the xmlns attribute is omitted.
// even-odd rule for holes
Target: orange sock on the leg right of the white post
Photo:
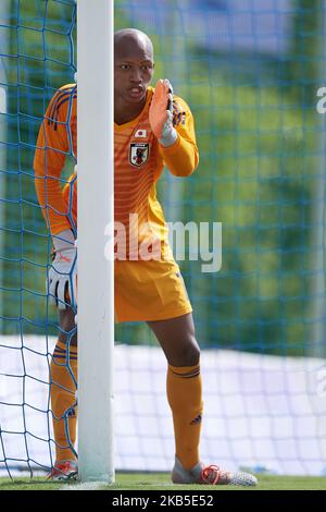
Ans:
<svg viewBox="0 0 326 512"><path fill-rule="evenodd" d="M191 470L199 462L202 416L200 366L168 366L167 400L173 413L176 456Z"/></svg>

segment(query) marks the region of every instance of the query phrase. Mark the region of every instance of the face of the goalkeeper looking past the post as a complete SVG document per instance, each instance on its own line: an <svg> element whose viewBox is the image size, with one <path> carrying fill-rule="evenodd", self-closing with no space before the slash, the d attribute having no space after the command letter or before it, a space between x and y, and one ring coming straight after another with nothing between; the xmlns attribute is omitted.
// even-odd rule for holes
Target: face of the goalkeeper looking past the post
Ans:
<svg viewBox="0 0 326 512"><path fill-rule="evenodd" d="M114 59L114 97L124 103L143 102L154 73L151 48L133 42L121 45Z"/></svg>

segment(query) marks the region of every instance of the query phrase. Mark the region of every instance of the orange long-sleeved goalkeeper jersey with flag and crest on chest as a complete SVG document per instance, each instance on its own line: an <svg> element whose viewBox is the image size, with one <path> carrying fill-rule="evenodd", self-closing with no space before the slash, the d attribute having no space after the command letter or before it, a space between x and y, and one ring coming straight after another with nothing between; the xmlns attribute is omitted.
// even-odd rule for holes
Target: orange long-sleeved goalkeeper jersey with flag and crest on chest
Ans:
<svg viewBox="0 0 326 512"><path fill-rule="evenodd" d="M131 235L137 237L138 244L152 236L166 242L164 215L155 191L164 164L173 174L186 176L197 168L199 158L192 114L187 103L176 96L173 123L177 141L168 148L159 144L149 123L153 90L149 87L146 105L136 119L114 124L114 219L125 228L127 258ZM77 224L77 180L71 176L67 184L61 180L66 155L77 159L76 103L75 84L59 89L46 111L37 139L36 191L52 234L71 229L72 222ZM96 169L89 172L96 179Z"/></svg>

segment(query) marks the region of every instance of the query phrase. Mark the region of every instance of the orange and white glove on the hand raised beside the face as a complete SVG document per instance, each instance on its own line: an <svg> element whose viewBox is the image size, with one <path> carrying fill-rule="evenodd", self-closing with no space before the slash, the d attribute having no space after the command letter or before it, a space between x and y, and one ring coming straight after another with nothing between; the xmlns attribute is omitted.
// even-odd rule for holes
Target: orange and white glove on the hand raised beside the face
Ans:
<svg viewBox="0 0 326 512"><path fill-rule="evenodd" d="M151 129L161 146L173 146L177 132L173 126L173 89L168 80L159 80L149 110Z"/></svg>

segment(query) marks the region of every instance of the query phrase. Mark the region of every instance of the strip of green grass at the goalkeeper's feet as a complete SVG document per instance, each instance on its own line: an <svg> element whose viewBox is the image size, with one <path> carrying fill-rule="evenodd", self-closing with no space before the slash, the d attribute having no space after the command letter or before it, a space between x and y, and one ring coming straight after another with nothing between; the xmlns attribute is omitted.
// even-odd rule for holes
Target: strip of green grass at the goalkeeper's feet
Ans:
<svg viewBox="0 0 326 512"><path fill-rule="evenodd" d="M305 476L259 476L259 485L246 490L326 490L326 477ZM62 490L74 484L58 484L45 481L43 478L0 478L0 490ZM176 486L171 484L170 475L165 473L121 473L116 475L113 486L102 486L101 490L240 490L242 487L235 486Z"/></svg>

